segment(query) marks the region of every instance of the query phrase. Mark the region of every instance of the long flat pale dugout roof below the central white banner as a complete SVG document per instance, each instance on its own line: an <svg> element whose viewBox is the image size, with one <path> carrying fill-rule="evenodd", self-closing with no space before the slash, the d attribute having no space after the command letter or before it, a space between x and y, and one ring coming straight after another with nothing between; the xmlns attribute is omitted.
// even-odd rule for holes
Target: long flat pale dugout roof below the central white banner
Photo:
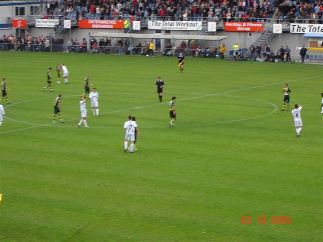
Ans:
<svg viewBox="0 0 323 242"><path fill-rule="evenodd" d="M227 36L220 35L175 35L175 34L134 34L134 33L107 33L98 32L92 34L91 37L112 37L112 38L141 38L141 39L200 39L200 40L223 40Z"/></svg>

